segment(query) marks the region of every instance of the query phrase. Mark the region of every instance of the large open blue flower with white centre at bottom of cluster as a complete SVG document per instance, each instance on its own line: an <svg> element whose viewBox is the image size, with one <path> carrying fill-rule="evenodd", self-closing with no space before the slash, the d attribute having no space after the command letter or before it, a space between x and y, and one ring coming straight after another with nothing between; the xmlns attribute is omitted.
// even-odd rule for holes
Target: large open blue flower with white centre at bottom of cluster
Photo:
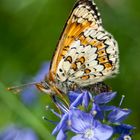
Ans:
<svg viewBox="0 0 140 140"><path fill-rule="evenodd" d="M91 114L78 109L70 111L69 121L71 131L77 134L71 140L108 140L113 134L110 126L94 120Z"/></svg>

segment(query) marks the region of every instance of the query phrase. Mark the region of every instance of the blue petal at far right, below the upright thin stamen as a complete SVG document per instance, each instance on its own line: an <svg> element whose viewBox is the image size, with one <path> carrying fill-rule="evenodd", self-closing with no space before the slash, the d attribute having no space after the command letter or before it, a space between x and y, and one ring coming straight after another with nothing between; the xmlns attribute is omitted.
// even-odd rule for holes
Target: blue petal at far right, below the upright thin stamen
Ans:
<svg viewBox="0 0 140 140"><path fill-rule="evenodd" d="M130 109L116 108L108 115L108 119L112 123L120 123L125 120L130 113Z"/></svg>

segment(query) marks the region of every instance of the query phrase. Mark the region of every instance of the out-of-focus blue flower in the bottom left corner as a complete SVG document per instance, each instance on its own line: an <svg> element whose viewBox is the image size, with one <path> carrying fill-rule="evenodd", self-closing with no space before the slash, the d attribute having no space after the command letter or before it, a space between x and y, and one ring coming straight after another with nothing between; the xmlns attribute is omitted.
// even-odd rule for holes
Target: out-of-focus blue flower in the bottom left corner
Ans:
<svg viewBox="0 0 140 140"><path fill-rule="evenodd" d="M0 133L0 140L38 140L38 137L30 128L11 125Z"/></svg>

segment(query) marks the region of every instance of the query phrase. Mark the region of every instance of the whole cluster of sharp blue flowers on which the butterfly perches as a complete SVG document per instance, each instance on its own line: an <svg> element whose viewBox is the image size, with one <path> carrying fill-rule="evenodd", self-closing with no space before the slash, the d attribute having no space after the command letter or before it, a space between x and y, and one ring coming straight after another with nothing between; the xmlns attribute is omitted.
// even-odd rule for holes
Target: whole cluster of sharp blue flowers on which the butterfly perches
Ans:
<svg viewBox="0 0 140 140"><path fill-rule="evenodd" d="M86 90L71 91L68 96L69 107L57 100L62 113L52 110L60 117L52 132L57 134L57 140L66 140L69 132L73 134L71 140L131 140L134 127L123 123L131 110L109 105L116 96L115 92L93 96Z"/></svg>

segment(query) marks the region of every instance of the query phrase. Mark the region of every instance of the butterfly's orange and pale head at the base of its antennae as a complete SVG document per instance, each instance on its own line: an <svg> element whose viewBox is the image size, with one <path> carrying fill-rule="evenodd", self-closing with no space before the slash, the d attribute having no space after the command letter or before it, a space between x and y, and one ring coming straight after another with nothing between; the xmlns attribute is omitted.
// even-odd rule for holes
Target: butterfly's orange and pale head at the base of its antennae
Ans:
<svg viewBox="0 0 140 140"><path fill-rule="evenodd" d="M42 81L42 82L37 83L37 84L35 84L35 85L36 85L36 87L37 87L40 91L42 91L42 92L44 92L44 93L46 93L46 94L50 94L50 93L51 93L50 86L49 86L49 84L48 84L47 82Z"/></svg>

